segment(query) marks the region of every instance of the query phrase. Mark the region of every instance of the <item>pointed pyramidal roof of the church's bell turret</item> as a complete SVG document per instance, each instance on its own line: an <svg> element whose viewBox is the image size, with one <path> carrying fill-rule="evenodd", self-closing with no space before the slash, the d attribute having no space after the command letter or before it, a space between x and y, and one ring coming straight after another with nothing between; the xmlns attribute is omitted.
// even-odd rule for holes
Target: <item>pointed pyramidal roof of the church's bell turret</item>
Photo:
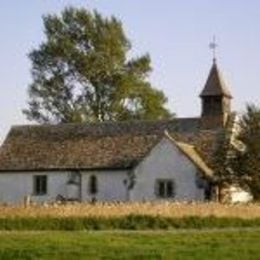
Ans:
<svg viewBox="0 0 260 260"><path fill-rule="evenodd" d="M205 87L200 94L200 97L206 96L226 96L232 98L232 95L215 62L211 67Z"/></svg>

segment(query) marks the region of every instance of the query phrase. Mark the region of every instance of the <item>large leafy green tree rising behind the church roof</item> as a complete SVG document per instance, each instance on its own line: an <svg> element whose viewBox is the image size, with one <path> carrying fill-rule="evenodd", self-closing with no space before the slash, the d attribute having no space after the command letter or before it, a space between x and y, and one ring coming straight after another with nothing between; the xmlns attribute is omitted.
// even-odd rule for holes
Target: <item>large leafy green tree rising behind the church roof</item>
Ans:
<svg viewBox="0 0 260 260"><path fill-rule="evenodd" d="M148 81L149 55L128 59L131 44L115 17L66 8L43 18L46 40L34 49L29 120L64 123L171 117Z"/></svg>

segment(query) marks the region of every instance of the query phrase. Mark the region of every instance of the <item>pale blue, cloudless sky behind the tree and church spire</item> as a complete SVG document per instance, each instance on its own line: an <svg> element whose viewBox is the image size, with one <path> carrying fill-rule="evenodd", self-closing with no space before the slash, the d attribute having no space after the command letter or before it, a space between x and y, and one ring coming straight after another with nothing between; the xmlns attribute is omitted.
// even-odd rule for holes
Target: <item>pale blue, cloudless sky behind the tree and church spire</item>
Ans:
<svg viewBox="0 0 260 260"><path fill-rule="evenodd" d="M150 81L168 97L179 117L200 115L198 95L217 62L234 96L233 110L260 103L259 0L8 0L0 3L0 143L12 125L28 124L31 82L28 53L44 40L42 16L66 6L96 9L123 23L131 55L149 53Z"/></svg>

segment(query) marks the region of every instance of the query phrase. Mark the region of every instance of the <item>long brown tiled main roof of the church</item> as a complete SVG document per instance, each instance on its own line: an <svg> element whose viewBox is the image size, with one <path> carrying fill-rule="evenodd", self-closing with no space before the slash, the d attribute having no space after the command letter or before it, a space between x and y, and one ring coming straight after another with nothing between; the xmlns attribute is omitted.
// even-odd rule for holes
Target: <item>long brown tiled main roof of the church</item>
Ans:
<svg viewBox="0 0 260 260"><path fill-rule="evenodd" d="M211 161L217 131L200 119L16 126L0 150L0 171L129 168L154 147L165 130L196 146Z"/></svg>

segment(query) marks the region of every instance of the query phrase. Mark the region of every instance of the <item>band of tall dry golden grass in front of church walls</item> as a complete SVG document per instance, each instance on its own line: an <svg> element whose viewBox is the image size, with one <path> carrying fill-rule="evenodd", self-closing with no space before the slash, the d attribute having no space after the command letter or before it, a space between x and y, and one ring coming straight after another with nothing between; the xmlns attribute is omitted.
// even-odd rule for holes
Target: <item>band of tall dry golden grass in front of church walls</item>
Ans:
<svg viewBox="0 0 260 260"><path fill-rule="evenodd" d="M119 217L129 214L164 217L216 216L239 217L244 219L260 218L260 204L218 204L218 203L74 203L66 205L0 206L2 217L70 217L96 216Z"/></svg>

